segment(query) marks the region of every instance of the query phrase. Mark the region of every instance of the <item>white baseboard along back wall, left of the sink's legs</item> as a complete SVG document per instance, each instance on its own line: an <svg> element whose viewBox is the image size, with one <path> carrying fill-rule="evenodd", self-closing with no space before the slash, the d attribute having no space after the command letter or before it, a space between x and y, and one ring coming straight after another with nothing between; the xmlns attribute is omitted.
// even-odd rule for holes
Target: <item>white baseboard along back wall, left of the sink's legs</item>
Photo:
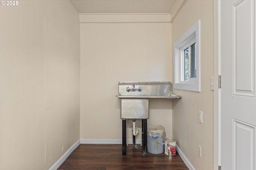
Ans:
<svg viewBox="0 0 256 170"><path fill-rule="evenodd" d="M80 144L122 144L122 139L80 139Z"/></svg>

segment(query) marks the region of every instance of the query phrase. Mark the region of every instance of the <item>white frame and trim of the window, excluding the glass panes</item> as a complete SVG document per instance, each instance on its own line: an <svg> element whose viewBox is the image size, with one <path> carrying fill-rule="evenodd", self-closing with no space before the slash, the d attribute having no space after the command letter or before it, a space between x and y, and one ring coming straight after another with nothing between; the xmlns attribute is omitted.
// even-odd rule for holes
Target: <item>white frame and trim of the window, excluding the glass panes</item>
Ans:
<svg viewBox="0 0 256 170"><path fill-rule="evenodd" d="M196 77L190 78L189 80L182 80L182 75L184 76L184 49L190 47L196 43ZM191 51L191 50L190 50ZM191 53L191 52L190 52ZM191 59L191 55L189 60ZM191 63L191 61L189 61ZM183 65L183 66L182 66ZM189 72L191 72L189 68ZM191 74L190 74L191 75ZM201 91L200 86L200 20L198 20L186 33L184 33L175 43L174 43L174 89L180 90L190 90L195 92Z"/></svg>

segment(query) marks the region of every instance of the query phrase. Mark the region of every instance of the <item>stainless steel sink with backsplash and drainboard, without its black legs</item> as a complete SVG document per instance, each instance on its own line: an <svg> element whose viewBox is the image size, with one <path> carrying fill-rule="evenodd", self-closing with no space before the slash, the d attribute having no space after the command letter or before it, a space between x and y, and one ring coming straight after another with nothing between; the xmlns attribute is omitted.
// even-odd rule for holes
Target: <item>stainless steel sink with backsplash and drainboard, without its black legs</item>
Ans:
<svg viewBox="0 0 256 170"><path fill-rule="evenodd" d="M148 119L149 99L179 99L172 94L171 82L119 82L121 119Z"/></svg>

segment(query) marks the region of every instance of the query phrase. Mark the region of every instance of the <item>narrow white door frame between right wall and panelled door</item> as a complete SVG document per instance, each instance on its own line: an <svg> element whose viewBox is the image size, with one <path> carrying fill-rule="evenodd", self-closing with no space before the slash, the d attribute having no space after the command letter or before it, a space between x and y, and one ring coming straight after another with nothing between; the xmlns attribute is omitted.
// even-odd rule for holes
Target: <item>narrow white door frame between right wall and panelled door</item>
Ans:
<svg viewBox="0 0 256 170"><path fill-rule="evenodd" d="M220 0L214 3L214 170L221 166L221 88L218 88L218 75L221 75L220 60Z"/></svg>

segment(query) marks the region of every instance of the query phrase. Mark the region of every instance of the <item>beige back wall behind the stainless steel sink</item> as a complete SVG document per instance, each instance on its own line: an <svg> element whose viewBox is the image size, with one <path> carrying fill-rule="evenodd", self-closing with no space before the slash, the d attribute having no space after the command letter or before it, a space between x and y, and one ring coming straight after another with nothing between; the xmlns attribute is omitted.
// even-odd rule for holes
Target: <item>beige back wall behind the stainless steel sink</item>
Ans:
<svg viewBox="0 0 256 170"><path fill-rule="evenodd" d="M80 23L81 139L122 139L119 81L172 80L170 30L171 23ZM171 100L150 100L152 124L172 137ZM128 127L131 143L132 121Z"/></svg>

